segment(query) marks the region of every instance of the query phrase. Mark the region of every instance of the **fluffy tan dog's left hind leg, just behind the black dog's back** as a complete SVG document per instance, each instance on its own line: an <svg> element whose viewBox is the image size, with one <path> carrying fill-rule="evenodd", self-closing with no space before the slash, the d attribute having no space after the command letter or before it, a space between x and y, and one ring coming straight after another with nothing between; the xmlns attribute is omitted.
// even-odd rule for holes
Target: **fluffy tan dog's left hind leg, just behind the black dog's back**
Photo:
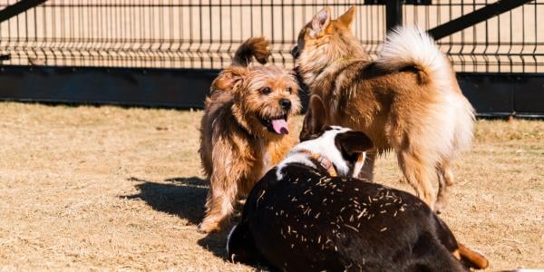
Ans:
<svg viewBox="0 0 544 272"><path fill-rule="evenodd" d="M413 152L398 151L397 157L404 177L413 189L415 189L416 195L432 208L434 205L430 179L431 174L434 173L432 167L423 160L424 156L414 154Z"/></svg>

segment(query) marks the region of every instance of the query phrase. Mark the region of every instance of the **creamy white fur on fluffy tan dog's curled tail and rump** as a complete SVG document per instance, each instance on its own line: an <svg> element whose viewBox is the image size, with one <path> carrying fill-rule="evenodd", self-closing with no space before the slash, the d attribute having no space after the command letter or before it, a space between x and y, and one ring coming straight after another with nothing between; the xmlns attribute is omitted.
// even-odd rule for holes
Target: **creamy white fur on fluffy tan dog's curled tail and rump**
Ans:
<svg viewBox="0 0 544 272"><path fill-rule="evenodd" d="M429 108L425 134L429 150L437 151L429 161L451 160L466 150L472 141L474 109L459 92L453 78L452 65L432 37L417 26L397 27L387 34L384 48L376 60L385 69L418 65L431 78L442 101ZM437 125L439 124L439 125ZM430 154L427 154L430 156Z"/></svg>

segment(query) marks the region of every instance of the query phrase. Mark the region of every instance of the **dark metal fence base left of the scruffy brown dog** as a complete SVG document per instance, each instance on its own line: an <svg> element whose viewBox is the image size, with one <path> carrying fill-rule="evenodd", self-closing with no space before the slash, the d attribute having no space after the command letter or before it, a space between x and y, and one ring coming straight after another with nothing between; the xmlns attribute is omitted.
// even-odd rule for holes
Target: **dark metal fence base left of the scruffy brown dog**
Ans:
<svg viewBox="0 0 544 272"><path fill-rule="evenodd" d="M0 100L202 108L217 70L0 66Z"/></svg>

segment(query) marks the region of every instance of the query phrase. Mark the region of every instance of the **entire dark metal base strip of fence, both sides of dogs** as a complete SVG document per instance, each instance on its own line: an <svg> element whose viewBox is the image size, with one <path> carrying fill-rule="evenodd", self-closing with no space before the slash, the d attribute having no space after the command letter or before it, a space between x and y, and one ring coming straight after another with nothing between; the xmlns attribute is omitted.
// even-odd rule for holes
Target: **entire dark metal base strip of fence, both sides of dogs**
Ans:
<svg viewBox="0 0 544 272"><path fill-rule="evenodd" d="M202 108L218 73L6 65L0 66L0 100ZM544 117L544 73L457 73L457 78L479 116Z"/></svg>

